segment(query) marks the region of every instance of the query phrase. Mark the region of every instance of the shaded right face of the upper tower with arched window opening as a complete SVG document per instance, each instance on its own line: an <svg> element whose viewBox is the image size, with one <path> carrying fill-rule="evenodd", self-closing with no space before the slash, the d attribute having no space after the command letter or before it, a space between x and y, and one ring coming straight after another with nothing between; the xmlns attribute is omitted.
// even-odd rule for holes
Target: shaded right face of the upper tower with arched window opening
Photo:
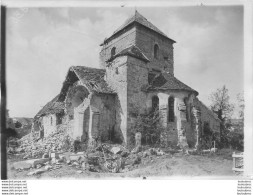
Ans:
<svg viewBox="0 0 253 195"><path fill-rule="evenodd" d="M154 45L159 46L158 59L154 58ZM150 60L151 69L166 70L174 74L173 43L165 37L138 25L136 30L136 46ZM166 59L167 58L167 59Z"/></svg>

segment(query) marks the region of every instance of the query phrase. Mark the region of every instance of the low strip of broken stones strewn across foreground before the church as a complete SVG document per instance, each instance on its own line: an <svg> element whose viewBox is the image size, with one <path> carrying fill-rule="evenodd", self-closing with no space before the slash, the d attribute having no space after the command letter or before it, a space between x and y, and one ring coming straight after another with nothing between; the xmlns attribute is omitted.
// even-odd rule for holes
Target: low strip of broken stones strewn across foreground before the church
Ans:
<svg viewBox="0 0 253 195"><path fill-rule="evenodd" d="M138 168L139 165L145 165L147 161L153 162L155 158L165 156L166 154L159 148L149 148L135 152L129 151L122 145L101 144L93 150L83 152L54 152L44 155L42 159L26 160L13 167L18 171L30 170L27 174L36 175L46 171L69 166L76 169L76 173L99 172L99 173L120 173L131 171ZM30 163L26 165L26 163Z"/></svg>

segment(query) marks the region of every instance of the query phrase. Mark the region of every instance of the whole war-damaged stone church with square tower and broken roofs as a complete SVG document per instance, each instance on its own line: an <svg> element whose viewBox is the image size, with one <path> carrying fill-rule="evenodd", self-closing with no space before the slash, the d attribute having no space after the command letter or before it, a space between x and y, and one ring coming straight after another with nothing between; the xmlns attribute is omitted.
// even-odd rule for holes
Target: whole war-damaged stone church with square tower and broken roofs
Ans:
<svg viewBox="0 0 253 195"><path fill-rule="evenodd" d="M100 44L99 69L69 68L59 94L34 117L33 131L46 137L64 126L73 139L128 146L134 112L158 109L165 145L197 148L203 128L219 132L220 121L175 77L175 43L135 11Z"/></svg>

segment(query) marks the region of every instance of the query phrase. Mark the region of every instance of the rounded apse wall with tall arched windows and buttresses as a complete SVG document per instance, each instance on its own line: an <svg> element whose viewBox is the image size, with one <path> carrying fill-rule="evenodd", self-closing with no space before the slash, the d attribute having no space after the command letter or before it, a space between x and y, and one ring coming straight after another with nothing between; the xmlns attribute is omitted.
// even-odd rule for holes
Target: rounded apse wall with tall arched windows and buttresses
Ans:
<svg viewBox="0 0 253 195"><path fill-rule="evenodd" d="M192 118L190 115L190 110L192 107L191 101L184 101L184 99L189 99L189 92L181 91L162 91L162 92L150 92L147 97L147 108L151 110L152 108L152 97L157 96L159 98L159 115L161 117L161 124L165 127L162 133L161 140L164 146L176 146L182 137L182 131L178 127L185 129L184 136L190 147L194 147L196 143L196 132L192 126ZM169 122L168 113L168 99L169 97L174 97L174 122ZM180 105L185 105L186 109L182 109Z"/></svg>

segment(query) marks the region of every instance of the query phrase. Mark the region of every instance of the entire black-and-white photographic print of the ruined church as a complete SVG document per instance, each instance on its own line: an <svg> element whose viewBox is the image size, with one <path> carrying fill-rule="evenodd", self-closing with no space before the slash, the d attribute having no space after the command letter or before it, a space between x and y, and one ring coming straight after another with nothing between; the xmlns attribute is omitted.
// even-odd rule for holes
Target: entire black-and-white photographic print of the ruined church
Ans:
<svg viewBox="0 0 253 195"><path fill-rule="evenodd" d="M245 177L244 5L118 5L5 8L7 179Z"/></svg>

